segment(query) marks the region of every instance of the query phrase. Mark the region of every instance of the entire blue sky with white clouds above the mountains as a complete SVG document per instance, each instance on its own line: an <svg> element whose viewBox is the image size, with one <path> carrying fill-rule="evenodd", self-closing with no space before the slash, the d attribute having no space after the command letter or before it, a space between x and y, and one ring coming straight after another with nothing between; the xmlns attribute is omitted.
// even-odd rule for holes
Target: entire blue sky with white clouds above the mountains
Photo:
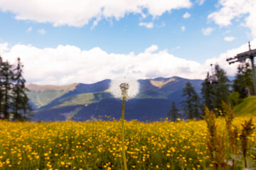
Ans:
<svg viewBox="0 0 256 170"><path fill-rule="evenodd" d="M0 54L11 62L21 57L28 83L36 84L121 74L203 79L210 62L235 74L225 58L256 43L253 0L113 2L3 0Z"/></svg>

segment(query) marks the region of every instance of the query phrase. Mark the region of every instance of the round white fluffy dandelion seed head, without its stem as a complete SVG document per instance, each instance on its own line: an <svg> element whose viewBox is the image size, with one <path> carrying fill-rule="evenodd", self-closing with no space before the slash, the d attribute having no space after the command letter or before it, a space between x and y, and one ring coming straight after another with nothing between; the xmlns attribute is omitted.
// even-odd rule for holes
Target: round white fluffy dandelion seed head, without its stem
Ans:
<svg viewBox="0 0 256 170"><path fill-rule="evenodd" d="M110 83L110 93L115 98L128 100L139 94L139 82L131 77L120 77Z"/></svg>

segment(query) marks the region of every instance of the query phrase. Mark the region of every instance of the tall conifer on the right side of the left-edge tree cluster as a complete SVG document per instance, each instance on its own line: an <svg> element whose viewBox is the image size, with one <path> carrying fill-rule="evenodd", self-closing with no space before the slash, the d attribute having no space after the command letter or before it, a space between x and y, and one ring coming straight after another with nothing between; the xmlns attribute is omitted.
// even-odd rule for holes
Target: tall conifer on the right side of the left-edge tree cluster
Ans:
<svg viewBox="0 0 256 170"><path fill-rule="evenodd" d="M28 97L26 95L26 91L28 91L25 86L26 80L22 76L22 68L23 65L21 64L20 58L18 58L18 64L14 69L14 75L12 77L14 81L12 89L12 98L14 102L12 104L12 110L14 112L14 120L26 119L27 111L31 111L31 106L28 103Z"/></svg>

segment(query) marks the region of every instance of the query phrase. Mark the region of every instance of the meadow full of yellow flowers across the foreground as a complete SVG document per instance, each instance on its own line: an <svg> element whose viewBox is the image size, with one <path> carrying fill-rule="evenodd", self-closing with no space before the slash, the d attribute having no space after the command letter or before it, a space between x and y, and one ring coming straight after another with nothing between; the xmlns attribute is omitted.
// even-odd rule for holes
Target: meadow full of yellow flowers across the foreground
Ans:
<svg viewBox="0 0 256 170"><path fill-rule="evenodd" d="M233 123L242 128L240 124L248 119L238 117ZM254 124L255 120L254 116ZM225 119L218 118L217 123L223 132ZM204 120L125 122L128 169L212 169L206 140ZM256 131L249 137L249 144L256 147ZM227 155L229 159L229 152ZM255 161L255 150L250 149L248 156ZM122 167L121 121L0 122L0 169Z"/></svg>

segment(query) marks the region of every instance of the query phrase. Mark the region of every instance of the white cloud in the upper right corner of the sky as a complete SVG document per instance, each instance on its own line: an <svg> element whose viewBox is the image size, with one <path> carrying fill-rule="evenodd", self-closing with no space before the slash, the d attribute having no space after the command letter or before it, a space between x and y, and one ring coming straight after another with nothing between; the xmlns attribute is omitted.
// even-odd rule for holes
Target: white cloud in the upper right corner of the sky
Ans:
<svg viewBox="0 0 256 170"><path fill-rule="evenodd" d="M208 19L219 26L230 26L233 21L245 16L242 26L250 28L252 37L256 37L256 1L255 0L220 0L220 10L210 13Z"/></svg>

